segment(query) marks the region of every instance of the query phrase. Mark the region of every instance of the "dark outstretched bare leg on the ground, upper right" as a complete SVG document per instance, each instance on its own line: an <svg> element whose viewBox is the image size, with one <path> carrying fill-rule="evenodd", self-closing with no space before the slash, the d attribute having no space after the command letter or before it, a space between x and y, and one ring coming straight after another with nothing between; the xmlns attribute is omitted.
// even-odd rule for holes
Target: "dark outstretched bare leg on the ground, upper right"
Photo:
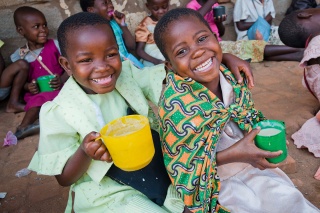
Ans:
<svg viewBox="0 0 320 213"><path fill-rule="evenodd" d="M264 59L267 61L301 61L304 48L284 45L266 45Z"/></svg>

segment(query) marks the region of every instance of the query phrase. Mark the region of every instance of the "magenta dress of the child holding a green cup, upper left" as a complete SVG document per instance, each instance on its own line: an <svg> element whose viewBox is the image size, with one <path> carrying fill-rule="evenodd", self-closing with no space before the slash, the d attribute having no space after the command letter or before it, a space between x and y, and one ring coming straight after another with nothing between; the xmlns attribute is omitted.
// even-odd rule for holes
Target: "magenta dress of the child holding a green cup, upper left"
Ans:
<svg viewBox="0 0 320 213"><path fill-rule="evenodd" d="M49 39L47 43L45 43L39 56L41 56L42 62L49 68L51 72L60 76L63 74L64 70L60 66L58 60L60 52L52 39ZM41 66L38 60L29 63L29 66L30 68L28 82L36 80L40 76L50 75ZM58 95L59 91L60 90L52 92L40 92L35 95L31 94L30 92L27 92L24 95L24 100L26 102L25 111L28 111L32 107L42 106L47 101L52 101Z"/></svg>

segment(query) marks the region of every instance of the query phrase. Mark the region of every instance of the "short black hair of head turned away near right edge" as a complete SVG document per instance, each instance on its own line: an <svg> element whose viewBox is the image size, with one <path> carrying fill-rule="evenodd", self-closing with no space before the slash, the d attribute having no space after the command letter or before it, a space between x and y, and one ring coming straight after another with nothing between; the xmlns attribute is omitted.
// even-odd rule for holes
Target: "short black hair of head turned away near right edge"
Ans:
<svg viewBox="0 0 320 213"><path fill-rule="evenodd" d="M286 15L281 21L278 29L281 41L289 46L296 48L304 48L311 32L297 17L301 10L293 11Z"/></svg>

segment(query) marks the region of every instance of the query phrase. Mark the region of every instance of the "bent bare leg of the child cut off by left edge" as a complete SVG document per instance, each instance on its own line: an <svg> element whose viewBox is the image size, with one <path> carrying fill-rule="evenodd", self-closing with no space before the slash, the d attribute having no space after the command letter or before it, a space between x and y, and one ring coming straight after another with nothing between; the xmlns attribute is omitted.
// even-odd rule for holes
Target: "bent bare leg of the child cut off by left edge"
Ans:
<svg viewBox="0 0 320 213"><path fill-rule="evenodd" d="M9 65L2 73L0 88L11 87L7 112L22 112L24 104L19 102L20 93L28 78L29 64L25 60L18 60Z"/></svg>

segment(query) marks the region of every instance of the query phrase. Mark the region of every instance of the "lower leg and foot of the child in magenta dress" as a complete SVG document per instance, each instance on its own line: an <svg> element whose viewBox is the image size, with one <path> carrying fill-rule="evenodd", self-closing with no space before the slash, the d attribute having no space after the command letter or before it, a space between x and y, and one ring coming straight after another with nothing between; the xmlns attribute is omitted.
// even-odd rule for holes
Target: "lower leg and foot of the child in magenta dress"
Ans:
<svg viewBox="0 0 320 213"><path fill-rule="evenodd" d="M39 132L39 124L34 124L34 122L39 118L40 108L41 107L32 107L26 112L21 124L17 128L17 131L14 133L18 139L22 139Z"/></svg>

